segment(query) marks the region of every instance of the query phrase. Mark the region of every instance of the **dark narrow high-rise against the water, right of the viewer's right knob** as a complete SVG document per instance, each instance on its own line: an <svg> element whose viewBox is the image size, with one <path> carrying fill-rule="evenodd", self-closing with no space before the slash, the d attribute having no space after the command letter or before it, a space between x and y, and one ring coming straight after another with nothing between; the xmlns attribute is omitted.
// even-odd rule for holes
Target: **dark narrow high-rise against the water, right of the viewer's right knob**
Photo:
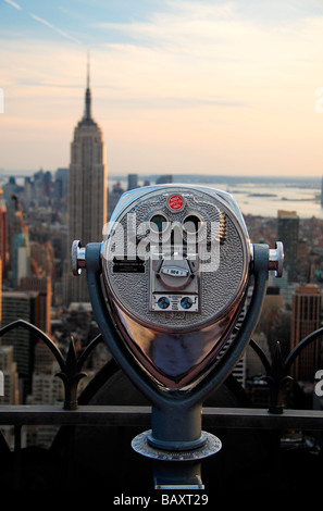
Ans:
<svg viewBox="0 0 323 511"><path fill-rule="evenodd" d="M284 244L284 269L288 272L288 282L298 277L298 235L299 216L296 211L278 210L277 239Z"/></svg>

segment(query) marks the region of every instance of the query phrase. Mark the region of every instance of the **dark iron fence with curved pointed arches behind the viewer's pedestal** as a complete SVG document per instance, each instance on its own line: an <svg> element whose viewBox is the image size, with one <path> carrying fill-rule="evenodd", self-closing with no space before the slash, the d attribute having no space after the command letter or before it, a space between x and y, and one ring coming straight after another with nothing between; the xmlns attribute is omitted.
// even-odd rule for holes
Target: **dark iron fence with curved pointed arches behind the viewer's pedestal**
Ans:
<svg viewBox="0 0 323 511"><path fill-rule="evenodd" d="M131 448L135 434L150 428L150 406L136 396L134 402L115 404L96 401L96 396L109 382L117 379L120 370L110 360L78 394L78 384L86 373L84 364L92 350L102 341L98 335L77 358L73 338L64 359L57 345L39 328L23 321L5 325L0 337L15 328L26 328L41 339L57 360L64 384L63 406L0 406L0 427L14 427L14 448L11 450L0 435L0 487L44 489L51 487L84 488L96 485L113 491L151 489L151 466ZM286 359L282 358L279 342L270 361L253 341L250 346L260 357L269 388L269 407L254 408L248 396L229 375L224 384L237 399L234 406L203 408L203 428L216 432L223 439L221 453L204 462L206 487L210 491L216 484L225 487L261 489L298 486L301 471L302 485L319 488L323 475L321 464L321 436L323 411L286 409L284 390L293 381L290 367L300 352L323 335L319 328L306 337ZM319 369L319 367L318 367ZM128 388L128 383L124 383ZM112 386L112 389L116 388ZM224 391L224 402L226 394ZM215 401L216 404L216 401ZM49 449L22 448L21 434L25 426L54 425L59 427ZM300 433L284 443L285 432ZM283 447L282 447L283 446ZM286 454L287 453L287 454ZM286 461L287 460L287 461ZM286 464L287 463L287 464ZM307 470L308 469L308 470ZM318 479L318 481L316 481Z"/></svg>

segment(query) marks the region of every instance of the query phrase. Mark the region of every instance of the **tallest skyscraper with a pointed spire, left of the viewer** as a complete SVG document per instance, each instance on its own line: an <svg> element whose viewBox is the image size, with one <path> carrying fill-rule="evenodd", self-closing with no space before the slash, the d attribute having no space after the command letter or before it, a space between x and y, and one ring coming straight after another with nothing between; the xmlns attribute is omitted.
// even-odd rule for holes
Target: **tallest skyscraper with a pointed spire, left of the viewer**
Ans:
<svg viewBox="0 0 323 511"><path fill-rule="evenodd" d="M71 247L75 239L85 246L102 240L107 222L107 166L102 130L92 117L89 65L85 111L75 127L69 170L69 237L65 264L65 301L89 301L86 278L72 276Z"/></svg>

